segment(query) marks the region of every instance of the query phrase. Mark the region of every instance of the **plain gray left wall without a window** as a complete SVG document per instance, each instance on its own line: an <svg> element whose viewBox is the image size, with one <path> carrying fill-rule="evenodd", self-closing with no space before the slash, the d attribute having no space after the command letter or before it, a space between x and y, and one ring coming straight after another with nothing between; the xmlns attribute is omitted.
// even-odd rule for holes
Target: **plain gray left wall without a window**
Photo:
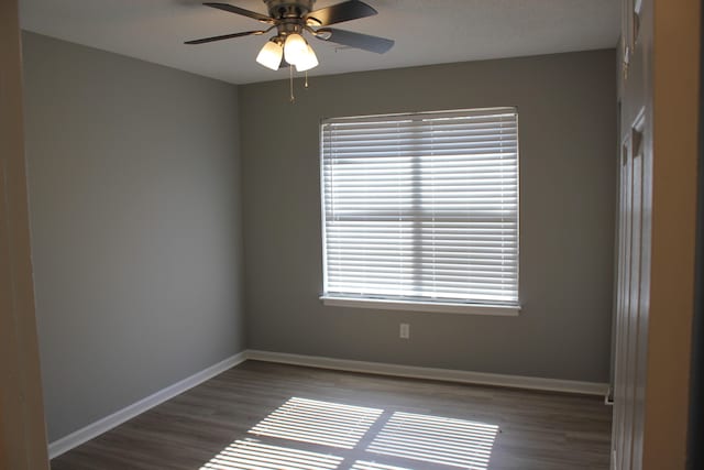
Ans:
<svg viewBox="0 0 704 470"><path fill-rule="evenodd" d="M244 349L238 90L23 41L52 441Z"/></svg>

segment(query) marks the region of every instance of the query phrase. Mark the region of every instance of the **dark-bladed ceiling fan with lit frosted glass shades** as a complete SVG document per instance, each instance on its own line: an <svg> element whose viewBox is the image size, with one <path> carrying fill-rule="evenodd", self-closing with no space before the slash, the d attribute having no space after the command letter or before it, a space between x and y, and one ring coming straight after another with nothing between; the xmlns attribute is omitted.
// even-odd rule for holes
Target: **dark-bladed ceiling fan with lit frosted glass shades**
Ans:
<svg viewBox="0 0 704 470"><path fill-rule="evenodd" d="M376 10L362 1L348 0L320 10L312 9L316 0L263 1L266 3L268 15L229 3L204 3L206 7L252 18L270 26L264 30L186 41L185 44L204 44L232 37L262 35L275 29L276 34L264 44L256 57L256 62L272 70L277 70L282 66L294 65L298 72L306 72L318 65L318 57L305 40L304 33L309 33L321 41L377 54L385 53L394 45L394 41L384 37L328 28L331 24L377 14Z"/></svg>

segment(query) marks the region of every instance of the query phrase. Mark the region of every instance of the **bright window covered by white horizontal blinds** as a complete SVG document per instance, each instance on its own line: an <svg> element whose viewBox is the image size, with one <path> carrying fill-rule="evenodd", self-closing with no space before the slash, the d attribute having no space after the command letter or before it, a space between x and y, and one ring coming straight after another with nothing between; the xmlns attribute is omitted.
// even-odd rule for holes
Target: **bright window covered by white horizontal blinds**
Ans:
<svg viewBox="0 0 704 470"><path fill-rule="evenodd" d="M515 108L321 125L326 304L518 311Z"/></svg>

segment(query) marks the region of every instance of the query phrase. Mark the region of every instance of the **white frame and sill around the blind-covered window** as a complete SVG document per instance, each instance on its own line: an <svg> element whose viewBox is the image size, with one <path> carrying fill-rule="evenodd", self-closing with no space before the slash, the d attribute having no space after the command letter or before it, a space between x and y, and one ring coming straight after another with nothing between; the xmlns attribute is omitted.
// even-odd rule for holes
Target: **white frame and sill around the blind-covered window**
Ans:
<svg viewBox="0 0 704 470"><path fill-rule="evenodd" d="M431 300L427 298L393 298L377 296L376 294L339 294L328 293L326 287L328 286L328 247L326 233L326 178L324 178L324 125L331 121L340 120L365 120L373 118L395 118L395 117L408 117L411 116L422 117L442 113L477 113L485 111L487 113L495 112L497 110L510 110L515 113L516 120L516 303L502 303L502 302L482 302L482 300ZM441 111L421 111L421 112L402 112L402 113L383 113L383 114L366 114L366 116L350 116L339 118L323 118L319 123L319 163L320 163L320 208L321 208L321 248L322 248L322 280L323 289L319 295L319 299L326 306L337 307L354 307L354 308L372 308L381 310L407 310L407 311L424 311L424 313L444 313L444 314L469 314L469 315L487 315L487 316L518 316L521 310L520 304L520 138L518 125L518 107L493 107L493 108L469 108L469 109L454 109L454 110L441 110Z"/></svg>

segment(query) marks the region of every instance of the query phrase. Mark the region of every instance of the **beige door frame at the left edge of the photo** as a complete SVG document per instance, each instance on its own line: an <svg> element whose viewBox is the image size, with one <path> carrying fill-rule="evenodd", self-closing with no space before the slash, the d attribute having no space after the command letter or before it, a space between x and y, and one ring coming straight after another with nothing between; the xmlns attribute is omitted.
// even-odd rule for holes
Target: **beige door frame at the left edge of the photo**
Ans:
<svg viewBox="0 0 704 470"><path fill-rule="evenodd" d="M48 469L30 251L18 0L0 1L0 468Z"/></svg>

